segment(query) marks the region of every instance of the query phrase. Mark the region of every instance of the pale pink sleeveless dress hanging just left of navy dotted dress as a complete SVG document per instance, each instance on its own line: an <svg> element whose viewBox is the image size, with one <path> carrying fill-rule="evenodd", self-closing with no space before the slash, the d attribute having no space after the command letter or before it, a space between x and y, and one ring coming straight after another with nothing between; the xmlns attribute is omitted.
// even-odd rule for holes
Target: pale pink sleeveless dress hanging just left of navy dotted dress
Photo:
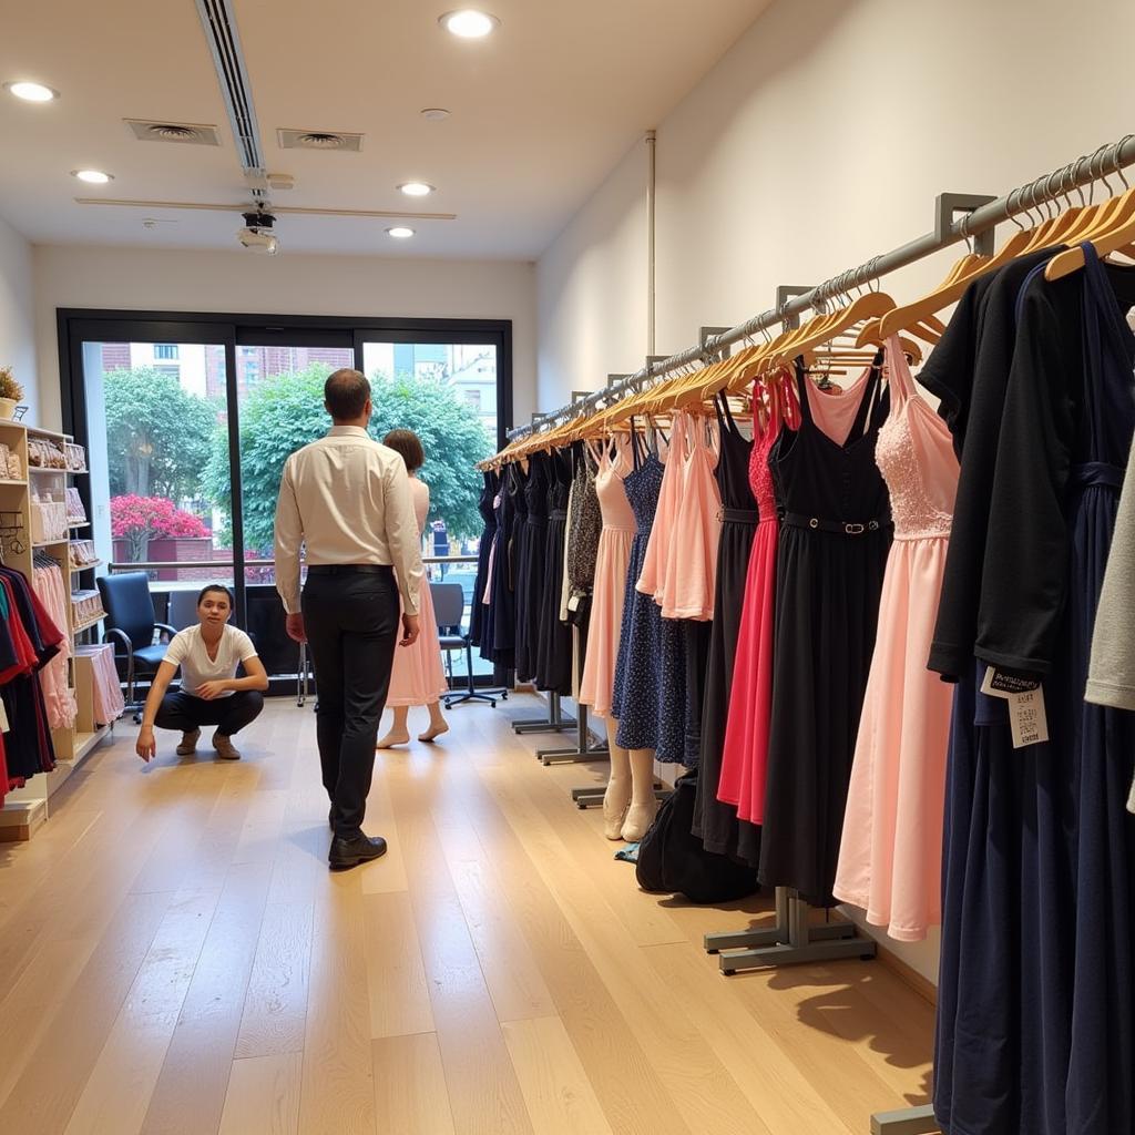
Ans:
<svg viewBox="0 0 1135 1135"><path fill-rule="evenodd" d="M634 513L623 488L623 478L631 471L630 438L619 437L613 445L604 445L596 461L599 468L595 474L595 491L603 529L595 560L591 620L579 700L590 706L596 717L608 717L623 625L627 570L636 531Z"/></svg>

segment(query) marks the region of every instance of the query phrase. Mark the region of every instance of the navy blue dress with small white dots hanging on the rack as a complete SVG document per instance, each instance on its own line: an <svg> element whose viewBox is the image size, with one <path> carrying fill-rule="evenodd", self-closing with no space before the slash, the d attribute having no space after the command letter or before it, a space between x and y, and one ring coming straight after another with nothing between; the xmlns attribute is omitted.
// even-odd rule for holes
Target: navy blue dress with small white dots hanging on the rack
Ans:
<svg viewBox="0 0 1135 1135"><path fill-rule="evenodd" d="M631 423L633 469L623 478L623 487L634 513L634 539L623 592L623 625L615 663L615 688L611 712L619 722L615 743L624 749L657 749L658 690L661 684L659 645L662 612L653 595L636 586L646 558L662 490L664 465L645 445Z"/></svg>

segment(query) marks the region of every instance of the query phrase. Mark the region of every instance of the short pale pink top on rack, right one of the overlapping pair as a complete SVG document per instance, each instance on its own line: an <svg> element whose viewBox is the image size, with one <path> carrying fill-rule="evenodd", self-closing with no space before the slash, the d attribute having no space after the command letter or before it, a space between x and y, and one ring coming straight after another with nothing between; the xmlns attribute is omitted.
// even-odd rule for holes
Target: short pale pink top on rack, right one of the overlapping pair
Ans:
<svg viewBox="0 0 1135 1135"><path fill-rule="evenodd" d="M686 418L687 453L680 469L674 527L666 552L663 587L655 592L663 619L713 619L721 539L721 488L717 468L717 422ZM675 422L676 429L676 422Z"/></svg>

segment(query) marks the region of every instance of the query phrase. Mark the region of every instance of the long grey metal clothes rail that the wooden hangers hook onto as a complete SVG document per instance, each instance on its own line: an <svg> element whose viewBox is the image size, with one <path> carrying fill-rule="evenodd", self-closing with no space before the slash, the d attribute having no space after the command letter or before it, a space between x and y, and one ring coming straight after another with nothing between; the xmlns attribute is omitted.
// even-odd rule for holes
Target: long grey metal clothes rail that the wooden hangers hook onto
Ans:
<svg viewBox="0 0 1135 1135"><path fill-rule="evenodd" d="M906 268L908 264L940 252L951 244L957 244L958 241L972 239L975 251L991 253L993 251L993 230L1002 221L1028 209L1059 201L1073 190L1079 190L1101 177L1105 177L1107 174L1118 173L1132 165L1135 165L1135 134L1128 134L1119 142L1100 146L1095 153L1077 158L1067 166L1042 175L1001 197L940 193L934 207L933 232L882 255L874 257L857 268L840 272L816 287L779 301L775 308L763 311L726 331L703 334L701 342L697 346L688 347L686 351L661 360L657 356L651 356L647 364L633 375L620 378L612 376L606 386L583 398L569 402L550 413L533 414L529 424L518 426L507 431L508 440L515 440L545 428L550 429L561 422L585 417L598 409L600 403L611 405L621 396L641 389L653 379L661 378L663 375L690 363L705 362L742 339L750 338L777 323L784 323L792 316L799 316L809 309L823 311L832 299L849 288L880 279L899 268ZM959 212L964 216L961 220L955 221L953 217ZM796 292L797 289L782 291ZM705 330L713 329L706 328Z"/></svg>

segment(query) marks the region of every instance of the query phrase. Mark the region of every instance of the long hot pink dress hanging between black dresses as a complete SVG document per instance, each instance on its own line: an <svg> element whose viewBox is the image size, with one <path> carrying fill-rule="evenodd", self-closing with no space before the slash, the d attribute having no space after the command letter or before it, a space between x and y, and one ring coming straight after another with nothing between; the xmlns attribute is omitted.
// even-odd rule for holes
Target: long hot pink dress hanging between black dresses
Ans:
<svg viewBox="0 0 1135 1135"><path fill-rule="evenodd" d="M768 455L782 427L796 429L800 421L791 381L784 381L781 376L773 381L768 421L764 432L758 434L749 459L749 485L759 519L749 553L721 779L717 781L717 799L735 805L738 818L750 824L764 822L768 723L773 709L773 620L780 521ZM756 398L755 388L754 402Z"/></svg>

